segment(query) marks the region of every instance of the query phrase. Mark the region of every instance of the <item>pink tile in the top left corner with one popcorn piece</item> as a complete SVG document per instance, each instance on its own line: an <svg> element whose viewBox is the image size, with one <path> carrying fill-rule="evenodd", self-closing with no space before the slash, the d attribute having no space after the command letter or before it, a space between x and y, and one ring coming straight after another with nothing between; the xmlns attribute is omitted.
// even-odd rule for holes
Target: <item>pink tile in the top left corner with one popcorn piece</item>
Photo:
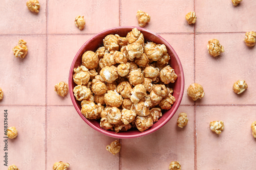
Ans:
<svg viewBox="0 0 256 170"><path fill-rule="evenodd" d="M46 0L40 0L39 12L31 12L27 0L1 1L0 34L46 34Z"/></svg>

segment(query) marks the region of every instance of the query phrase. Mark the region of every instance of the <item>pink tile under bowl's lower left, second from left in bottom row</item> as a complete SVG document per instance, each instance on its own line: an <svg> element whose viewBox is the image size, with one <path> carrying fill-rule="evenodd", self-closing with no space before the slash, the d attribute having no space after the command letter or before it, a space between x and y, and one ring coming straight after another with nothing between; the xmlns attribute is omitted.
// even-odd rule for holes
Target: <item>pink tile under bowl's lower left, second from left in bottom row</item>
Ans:
<svg viewBox="0 0 256 170"><path fill-rule="evenodd" d="M87 125L73 106L47 107L47 169L58 161L69 163L70 170L118 169L119 154L106 150L114 140Z"/></svg>

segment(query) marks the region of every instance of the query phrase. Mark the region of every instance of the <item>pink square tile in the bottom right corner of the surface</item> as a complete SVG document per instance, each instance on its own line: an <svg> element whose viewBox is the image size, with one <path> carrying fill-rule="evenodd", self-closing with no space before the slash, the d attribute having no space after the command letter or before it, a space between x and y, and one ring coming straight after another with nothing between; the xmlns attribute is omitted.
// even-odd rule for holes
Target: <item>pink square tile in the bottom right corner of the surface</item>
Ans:
<svg viewBox="0 0 256 170"><path fill-rule="evenodd" d="M255 169L256 145L251 124L256 106L198 106L196 108L197 169ZM220 135L209 128L222 120ZM239 156L238 156L239 155Z"/></svg>

